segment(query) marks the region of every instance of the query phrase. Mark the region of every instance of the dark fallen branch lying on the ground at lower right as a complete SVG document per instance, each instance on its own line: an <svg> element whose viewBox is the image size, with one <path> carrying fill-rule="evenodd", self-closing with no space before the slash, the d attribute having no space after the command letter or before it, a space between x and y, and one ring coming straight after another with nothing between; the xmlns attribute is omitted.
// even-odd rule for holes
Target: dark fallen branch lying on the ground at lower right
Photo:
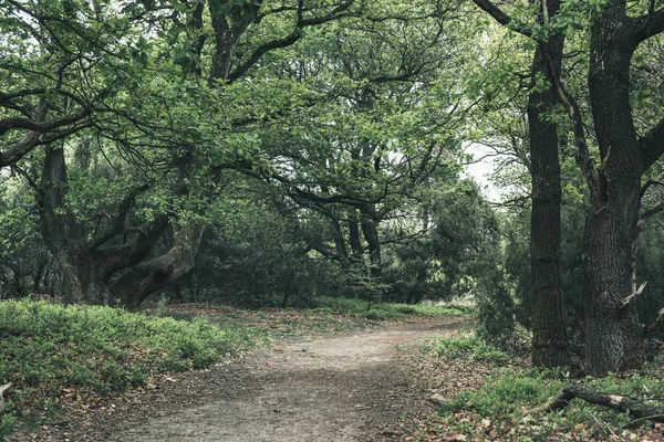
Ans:
<svg viewBox="0 0 664 442"><path fill-rule="evenodd" d="M570 404L574 398L583 399L587 402L598 406L610 407L614 410L625 412L637 419L647 419L655 422L664 422L664 408L649 406L635 399L625 396L606 394L583 386L569 386L562 389L562 392L550 399L541 407L527 411L527 414L560 410Z"/></svg>

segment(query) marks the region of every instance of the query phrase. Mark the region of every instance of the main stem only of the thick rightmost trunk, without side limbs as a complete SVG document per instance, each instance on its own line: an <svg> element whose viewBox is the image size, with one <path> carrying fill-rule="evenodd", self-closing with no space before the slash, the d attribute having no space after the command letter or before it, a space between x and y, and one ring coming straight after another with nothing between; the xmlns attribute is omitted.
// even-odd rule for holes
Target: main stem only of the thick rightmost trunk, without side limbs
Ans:
<svg viewBox="0 0 664 442"><path fill-rule="evenodd" d="M630 63L636 48L625 4L595 18L589 91L600 146L600 192L587 225L585 356L594 375L642 360L632 294L632 246L640 212L642 164L630 106Z"/></svg>

